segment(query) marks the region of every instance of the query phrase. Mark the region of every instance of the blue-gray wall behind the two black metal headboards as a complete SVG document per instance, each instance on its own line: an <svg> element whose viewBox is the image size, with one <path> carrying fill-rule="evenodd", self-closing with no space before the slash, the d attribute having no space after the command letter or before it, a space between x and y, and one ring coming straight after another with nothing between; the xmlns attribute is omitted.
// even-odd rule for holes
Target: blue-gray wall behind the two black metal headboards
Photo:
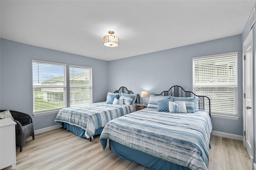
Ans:
<svg viewBox="0 0 256 170"><path fill-rule="evenodd" d="M209 32L210 33L210 32ZM188 37L189 38L189 37ZM192 91L192 57L238 51L238 120L212 117L213 131L242 135L242 36L128 57L108 63L108 91L126 86L134 93L160 94L180 85ZM146 103L148 98L145 99ZM141 99L143 102L143 99Z"/></svg>

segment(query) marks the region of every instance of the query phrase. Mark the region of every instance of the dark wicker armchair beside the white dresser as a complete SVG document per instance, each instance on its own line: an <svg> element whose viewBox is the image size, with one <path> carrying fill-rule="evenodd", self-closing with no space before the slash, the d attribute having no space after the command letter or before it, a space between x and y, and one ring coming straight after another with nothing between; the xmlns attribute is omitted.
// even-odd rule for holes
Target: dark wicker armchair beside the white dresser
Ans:
<svg viewBox="0 0 256 170"><path fill-rule="evenodd" d="M0 110L0 112L2 111L5 110ZM32 136L33 140L35 139L33 120L29 114L13 110L10 110L10 112L17 123L15 125L16 147L20 147L21 152L22 146L28 137Z"/></svg>

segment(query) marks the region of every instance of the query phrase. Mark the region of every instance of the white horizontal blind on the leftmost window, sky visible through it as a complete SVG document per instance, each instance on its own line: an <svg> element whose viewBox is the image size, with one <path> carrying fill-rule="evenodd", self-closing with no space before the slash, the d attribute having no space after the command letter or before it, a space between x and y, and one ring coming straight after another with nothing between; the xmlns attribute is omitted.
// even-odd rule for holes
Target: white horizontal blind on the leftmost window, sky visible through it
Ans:
<svg viewBox="0 0 256 170"><path fill-rule="evenodd" d="M66 107L66 64L32 60L33 114Z"/></svg>

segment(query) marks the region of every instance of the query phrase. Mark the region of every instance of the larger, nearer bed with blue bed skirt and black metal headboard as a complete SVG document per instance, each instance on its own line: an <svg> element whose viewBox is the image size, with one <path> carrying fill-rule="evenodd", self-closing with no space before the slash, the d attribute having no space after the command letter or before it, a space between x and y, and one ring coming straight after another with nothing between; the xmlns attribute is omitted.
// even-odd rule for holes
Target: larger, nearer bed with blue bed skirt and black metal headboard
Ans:
<svg viewBox="0 0 256 170"><path fill-rule="evenodd" d="M186 101L189 113L159 110L159 101L168 97L176 103L178 100ZM190 110L191 103L187 101L197 101L194 102L194 111ZM103 149L109 139L112 152L150 169L207 170L212 130L210 99L173 86L159 97L152 96L148 106L153 108L108 122L100 136Z"/></svg>

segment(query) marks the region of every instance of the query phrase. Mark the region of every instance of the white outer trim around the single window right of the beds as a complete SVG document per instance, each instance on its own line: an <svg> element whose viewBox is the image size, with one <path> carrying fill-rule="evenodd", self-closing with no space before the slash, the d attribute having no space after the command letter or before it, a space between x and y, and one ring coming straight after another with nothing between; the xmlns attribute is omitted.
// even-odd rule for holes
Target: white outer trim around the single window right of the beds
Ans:
<svg viewBox="0 0 256 170"><path fill-rule="evenodd" d="M220 53L220 54L214 54L214 55L206 55L206 56L200 56L200 57L192 57L192 60L193 60L193 63L194 63L194 60L195 59L206 59L206 58L213 58L213 57L221 57L221 56L228 56L228 55L236 55L236 64L237 64L237 67L238 67L238 51L235 51L235 52L229 52L229 53ZM192 64L193 64L192 63ZM194 73L194 64L193 64L193 72L192 74ZM236 87L237 87L237 98L238 98L238 69L236 70L237 71L237 82L236 82ZM194 75L193 75L193 78L194 78ZM204 85L207 85L207 83L205 83ZM218 85L218 84L216 84ZM193 89L194 89L194 79L193 79ZM238 100L236 100L236 106L238 106ZM234 119L234 120L238 120L238 107L236 107L237 109L237 114L234 114L234 115L225 115L225 114L216 114L216 113L211 113L211 116L212 117L220 117L220 118L225 118L225 119Z"/></svg>

